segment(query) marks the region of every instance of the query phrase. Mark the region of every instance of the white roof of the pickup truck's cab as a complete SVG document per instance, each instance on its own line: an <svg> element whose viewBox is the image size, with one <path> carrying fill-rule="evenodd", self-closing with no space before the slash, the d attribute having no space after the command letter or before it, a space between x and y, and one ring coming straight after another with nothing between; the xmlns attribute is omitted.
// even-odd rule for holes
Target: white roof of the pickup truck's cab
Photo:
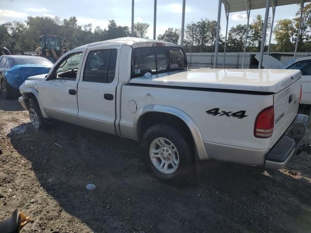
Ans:
<svg viewBox="0 0 311 233"><path fill-rule="evenodd" d="M143 39L143 38L137 38L137 37L121 37L121 38L116 38L116 39L111 39L111 40L104 40L104 41L99 41L99 42L94 42L86 45L82 45L76 49L81 49L85 47L97 47L97 46L111 46L115 45L117 48L121 48L122 45L129 45L133 48L138 48L138 47L150 47L153 46L154 43L163 43L165 46L176 46L173 43L161 41L161 40L151 40L151 39Z"/></svg>

